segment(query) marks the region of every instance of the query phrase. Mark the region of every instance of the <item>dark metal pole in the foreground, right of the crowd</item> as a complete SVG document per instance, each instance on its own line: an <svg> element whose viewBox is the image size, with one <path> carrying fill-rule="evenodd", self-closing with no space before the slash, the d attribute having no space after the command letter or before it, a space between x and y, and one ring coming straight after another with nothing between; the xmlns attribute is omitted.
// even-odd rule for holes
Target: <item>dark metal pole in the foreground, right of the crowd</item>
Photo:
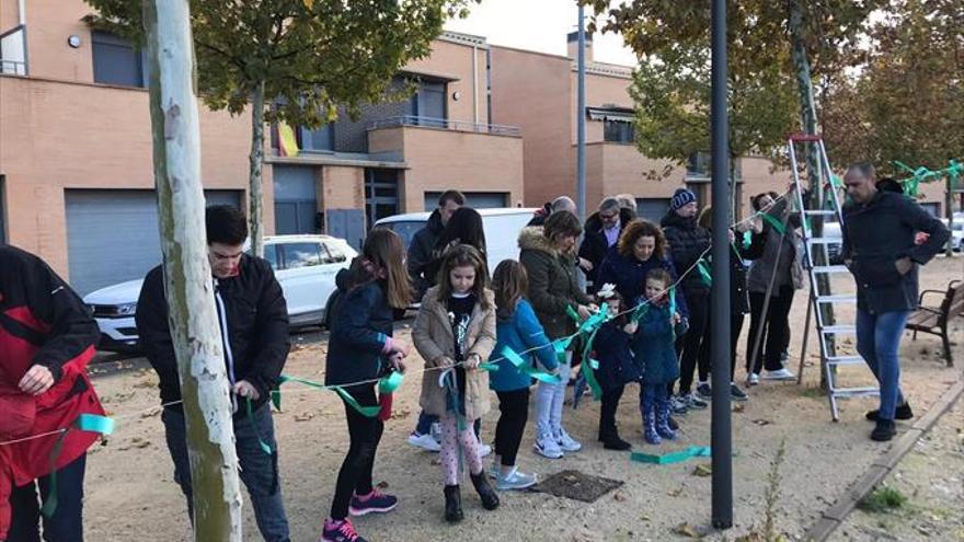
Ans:
<svg viewBox="0 0 964 542"><path fill-rule="evenodd" d="M726 107L726 0L712 10L712 428L714 529L733 527L733 442L730 419L730 119Z"/></svg>

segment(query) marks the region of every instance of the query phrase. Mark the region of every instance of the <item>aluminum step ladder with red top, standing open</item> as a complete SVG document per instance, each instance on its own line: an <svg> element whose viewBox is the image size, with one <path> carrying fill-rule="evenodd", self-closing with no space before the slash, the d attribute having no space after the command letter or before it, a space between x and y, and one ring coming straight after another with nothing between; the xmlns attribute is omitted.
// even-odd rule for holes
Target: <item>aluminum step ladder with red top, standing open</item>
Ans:
<svg viewBox="0 0 964 542"><path fill-rule="evenodd" d="M819 201L819 208L808 208L807 199L804 198L805 186L800 178L800 170L797 168L796 152L794 146L797 143L813 143L819 151L819 183L815 189L819 191L816 201ZM854 318L857 315L857 285L850 292L834 292L831 288L822 289L819 285L820 277L827 277L829 285L830 277L834 275L848 274L849 270L844 265L831 264L831 256L835 252L842 249L842 224L844 215L840 209L840 195L834 184L833 170L830 161L827 159L827 151L824 141L819 136L811 135L793 135L788 140L790 151L790 168L793 174L793 197L795 207L801 210L802 231L804 241L804 267L810 277L810 310L816 315L816 332L820 345L820 367L827 377L827 399L830 403L830 415L834 422L840 419L837 402L841 399L850 397L868 397L880 395L880 387L864 388L847 388L842 385L837 378L837 369L845 366L861 366L870 373L870 368L860 355L840 356L836 353L837 337L850 335L856 343L857 326L854 323L845 323L839 321L838 311L834 311L835 322L825 322L822 307L831 305L834 308L850 307L853 309ZM822 231L826 232L827 222L836 222L840 224L839 233L833 235L815 237L812 220L820 221L825 227ZM835 251L834 249L837 249ZM839 286L839 285L838 285ZM833 338L830 338L833 337ZM806 337L804 337L806 341ZM805 349L805 347L804 347ZM801 374L802 377L802 374Z"/></svg>

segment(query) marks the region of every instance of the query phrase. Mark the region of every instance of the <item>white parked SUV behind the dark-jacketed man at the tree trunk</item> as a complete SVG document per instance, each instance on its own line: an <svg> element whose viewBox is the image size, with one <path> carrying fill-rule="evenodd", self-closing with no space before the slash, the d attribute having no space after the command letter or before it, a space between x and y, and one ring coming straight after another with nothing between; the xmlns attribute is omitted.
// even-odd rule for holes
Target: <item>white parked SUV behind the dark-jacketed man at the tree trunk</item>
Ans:
<svg viewBox="0 0 964 542"><path fill-rule="evenodd" d="M348 267L356 255L345 240L329 235L264 239L264 257L271 263L285 292L292 327L324 323L325 305L335 290L335 275ZM144 279L129 280L83 298L101 330L101 349L137 349L134 315L142 282Z"/></svg>

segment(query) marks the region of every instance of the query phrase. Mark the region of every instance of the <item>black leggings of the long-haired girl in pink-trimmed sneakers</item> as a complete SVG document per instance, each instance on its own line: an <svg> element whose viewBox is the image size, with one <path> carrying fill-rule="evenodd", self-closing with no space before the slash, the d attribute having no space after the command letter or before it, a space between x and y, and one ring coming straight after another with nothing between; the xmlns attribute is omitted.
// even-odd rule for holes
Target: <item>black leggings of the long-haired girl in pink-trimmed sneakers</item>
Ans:
<svg viewBox="0 0 964 542"><path fill-rule="evenodd" d="M375 384L345 388L345 391L355 397L355 401L362 406L378 405ZM344 403L344 400L342 402ZM378 449L378 441L381 440L381 431L385 428L385 424L378 417L363 416L348 403L345 403L345 416L348 422L348 437L352 443L342 462L338 481L335 485L335 496L331 509L331 517L334 520L348 517L348 504L353 493L358 495L371 493L371 469L375 466L375 451Z"/></svg>

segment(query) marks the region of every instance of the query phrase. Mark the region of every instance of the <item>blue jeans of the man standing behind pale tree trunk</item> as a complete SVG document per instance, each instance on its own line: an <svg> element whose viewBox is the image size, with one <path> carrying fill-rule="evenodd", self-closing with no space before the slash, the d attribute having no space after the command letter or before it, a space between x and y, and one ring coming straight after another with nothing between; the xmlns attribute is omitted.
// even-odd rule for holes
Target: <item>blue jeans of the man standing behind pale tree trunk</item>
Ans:
<svg viewBox="0 0 964 542"><path fill-rule="evenodd" d="M168 450L174 460L174 481L187 499L187 514L194 518L194 493L191 487L191 462L187 459L187 440L185 437L184 413L177 408L164 408L161 413ZM268 455L261 449L257 438L274 450ZM278 477L278 445L275 441L275 428L272 422L271 404L265 403L246 416L234 418L234 449L241 466L241 482L251 496L254 519L257 529L267 542L288 542L288 518L285 516L285 504L282 498L282 486Z"/></svg>

